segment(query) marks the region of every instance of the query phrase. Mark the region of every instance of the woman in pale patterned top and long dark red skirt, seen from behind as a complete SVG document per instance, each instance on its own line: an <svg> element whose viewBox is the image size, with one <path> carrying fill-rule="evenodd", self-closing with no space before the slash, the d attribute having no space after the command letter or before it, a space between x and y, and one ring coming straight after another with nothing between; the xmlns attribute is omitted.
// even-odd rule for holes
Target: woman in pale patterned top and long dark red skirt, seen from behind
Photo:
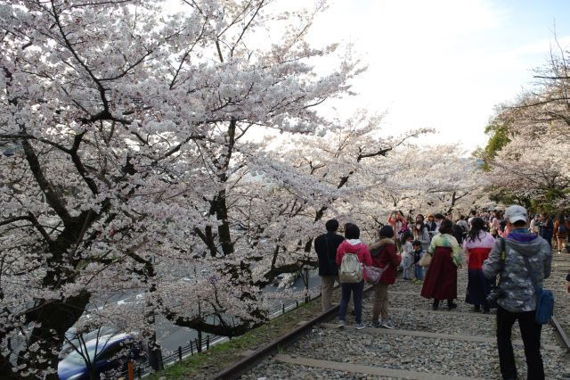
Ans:
<svg viewBox="0 0 570 380"><path fill-rule="evenodd" d="M432 308L437 310L441 300L447 300L449 310L457 308L457 265L461 253L460 244L452 235L452 221L442 220L439 235L429 244L428 253L432 260L421 288L421 296L434 299Z"/></svg>

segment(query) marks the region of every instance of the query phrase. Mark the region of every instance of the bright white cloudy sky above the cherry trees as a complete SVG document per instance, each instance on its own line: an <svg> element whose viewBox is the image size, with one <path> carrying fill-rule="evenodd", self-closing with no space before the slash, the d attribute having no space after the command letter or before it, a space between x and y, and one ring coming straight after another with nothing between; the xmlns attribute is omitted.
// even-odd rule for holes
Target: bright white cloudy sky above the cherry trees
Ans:
<svg viewBox="0 0 570 380"><path fill-rule="evenodd" d="M436 128L424 142L485 145L493 106L533 81L554 45L570 46L570 1L336 0L316 43L354 44L369 69L342 111L388 112L390 134Z"/></svg>

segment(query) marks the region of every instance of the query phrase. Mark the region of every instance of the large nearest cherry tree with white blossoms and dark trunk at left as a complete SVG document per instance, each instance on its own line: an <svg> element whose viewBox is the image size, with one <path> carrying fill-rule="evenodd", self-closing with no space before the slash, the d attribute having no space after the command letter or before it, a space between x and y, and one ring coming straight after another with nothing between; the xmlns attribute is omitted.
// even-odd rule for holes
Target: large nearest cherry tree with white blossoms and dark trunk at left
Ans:
<svg viewBox="0 0 570 380"><path fill-rule="evenodd" d="M315 107L346 93L357 62L316 75L311 60L336 49L305 42L322 3L164 5L0 3L3 378L56 378L65 332L116 293L144 292L148 326L181 304L199 305L181 323L214 333L264 318L232 238L230 178L263 165L252 131L329 128ZM183 283L207 264L215 274Z"/></svg>

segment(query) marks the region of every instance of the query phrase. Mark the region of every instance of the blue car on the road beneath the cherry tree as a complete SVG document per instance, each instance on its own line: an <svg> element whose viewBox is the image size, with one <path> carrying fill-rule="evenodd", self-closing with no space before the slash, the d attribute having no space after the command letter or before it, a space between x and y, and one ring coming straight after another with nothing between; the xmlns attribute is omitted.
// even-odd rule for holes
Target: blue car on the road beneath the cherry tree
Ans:
<svg viewBox="0 0 570 380"><path fill-rule="evenodd" d="M88 357L94 364L98 375L112 370L126 370L128 359L141 359L142 350L133 335L102 335L85 343L82 350L68 348L60 360L57 374L61 380L89 379L89 370L85 364Z"/></svg>

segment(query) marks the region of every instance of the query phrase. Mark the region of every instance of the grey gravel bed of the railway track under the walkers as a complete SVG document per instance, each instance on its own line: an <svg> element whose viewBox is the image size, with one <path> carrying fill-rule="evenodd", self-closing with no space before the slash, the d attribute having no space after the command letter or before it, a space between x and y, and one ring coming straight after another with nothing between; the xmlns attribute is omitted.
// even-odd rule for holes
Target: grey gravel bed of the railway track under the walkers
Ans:
<svg viewBox="0 0 570 380"><path fill-rule="evenodd" d="M553 265L552 279L544 287L563 289L560 278L566 277L566 266ZM558 269L557 269L558 268ZM564 268L564 269L563 269ZM467 271L458 273L459 307L454 312L433 312L431 302L419 296L421 285L400 278L388 291L390 316L399 330L468 335L494 338L494 315L473 312L472 305L462 302L465 297ZM570 295L555 293L555 315L563 323L570 323ZM445 306L443 302L443 306ZM445 308L440 308L446 310ZM333 320L334 322L334 320ZM365 295L362 322L371 323L371 294ZM446 376L466 376L484 379L501 378L496 344L428 338L407 335L385 335L376 329L354 329L354 317L347 317L344 329L315 326L293 345L281 351L298 358L330 360L377 368L393 368ZM513 327L513 339L520 339L517 324ZM547 379L570 379L570 360L562 349L554 329L546 325L542 329L542 359ZM544 347L544 344L549 347ZM557 348L550 348L557 346ZM558 348L559 347L559 348ZM515 359L519 378L526 378L525 354L522 345L515 345ZM265 359L242 379L387 379L394 377L371 376L346 371L312 368Z"/></svg>

